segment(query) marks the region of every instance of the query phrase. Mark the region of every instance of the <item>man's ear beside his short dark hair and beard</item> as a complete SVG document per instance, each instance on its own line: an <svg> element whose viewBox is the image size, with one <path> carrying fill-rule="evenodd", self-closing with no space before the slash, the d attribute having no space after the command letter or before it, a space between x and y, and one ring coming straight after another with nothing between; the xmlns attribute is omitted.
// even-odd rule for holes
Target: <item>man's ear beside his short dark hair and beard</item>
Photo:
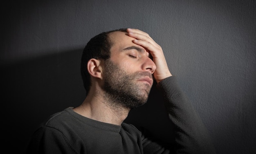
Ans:
<svg viewBox="0 0 256 154"><path fill-rule="evenodd" d="M87 70L92 77L102 79L102 67L100 60L94 58L90 59L87 63Z"/></svg>

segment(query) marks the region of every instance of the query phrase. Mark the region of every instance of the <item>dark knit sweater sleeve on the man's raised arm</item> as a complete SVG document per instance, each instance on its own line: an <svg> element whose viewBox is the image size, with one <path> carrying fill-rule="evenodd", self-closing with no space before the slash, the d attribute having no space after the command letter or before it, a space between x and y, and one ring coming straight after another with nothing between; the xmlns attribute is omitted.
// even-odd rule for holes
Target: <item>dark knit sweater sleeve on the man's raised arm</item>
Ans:
<svg viewBox="0 0 256 154"><path fill-rule="evenodd" d="M177 86L175 77L157 85L164 96L169 119L175 125L175 151L182 154L214 154L209 134L192 103Z"/></svg>

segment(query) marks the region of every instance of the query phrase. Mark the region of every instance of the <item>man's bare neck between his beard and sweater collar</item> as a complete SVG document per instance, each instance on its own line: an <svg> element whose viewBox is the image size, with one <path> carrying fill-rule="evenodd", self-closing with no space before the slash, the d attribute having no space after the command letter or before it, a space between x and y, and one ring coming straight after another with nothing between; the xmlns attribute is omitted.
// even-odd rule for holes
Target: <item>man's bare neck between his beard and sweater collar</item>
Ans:
<svg viewBox="0 0 256 154"><path fill-rule="evenodd" d="M73 110L84 117L115 125L121 125L130 109L117 106L102 92L88 94L83 103ZM115 104L115 105L114 105Z"/></svg>

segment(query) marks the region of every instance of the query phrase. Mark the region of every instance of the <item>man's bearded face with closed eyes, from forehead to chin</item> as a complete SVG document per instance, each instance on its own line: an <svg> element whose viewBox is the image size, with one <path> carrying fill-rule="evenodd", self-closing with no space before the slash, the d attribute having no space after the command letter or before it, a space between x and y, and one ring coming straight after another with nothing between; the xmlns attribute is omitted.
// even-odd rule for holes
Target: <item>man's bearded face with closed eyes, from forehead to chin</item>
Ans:
<svg viewBox="0 0 256 154"><path fill-rule="evenodd" d="M146 103L153 84L154 62L134 38L124 32L111 33L114 43L105 62L103 89L116 104L136 108Z"/></svg>

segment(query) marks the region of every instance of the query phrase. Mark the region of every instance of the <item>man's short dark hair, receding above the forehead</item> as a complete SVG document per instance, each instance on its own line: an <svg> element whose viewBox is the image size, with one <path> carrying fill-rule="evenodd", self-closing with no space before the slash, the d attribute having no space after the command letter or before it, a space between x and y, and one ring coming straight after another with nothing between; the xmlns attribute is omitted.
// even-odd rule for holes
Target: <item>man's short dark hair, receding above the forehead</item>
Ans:
<svg viewBox="0 0 256 154"><path fill-rule="evenodd" d="M99 35L92 37L83 49L81 58L81 75L83 79L83 86L87 94L92 85L91 77L87 70L87 63L92 58L103 60L110 58L112 42L109 38L109 34L115 31L127 32L127 29L116 29L100 33Z"/></svg>

